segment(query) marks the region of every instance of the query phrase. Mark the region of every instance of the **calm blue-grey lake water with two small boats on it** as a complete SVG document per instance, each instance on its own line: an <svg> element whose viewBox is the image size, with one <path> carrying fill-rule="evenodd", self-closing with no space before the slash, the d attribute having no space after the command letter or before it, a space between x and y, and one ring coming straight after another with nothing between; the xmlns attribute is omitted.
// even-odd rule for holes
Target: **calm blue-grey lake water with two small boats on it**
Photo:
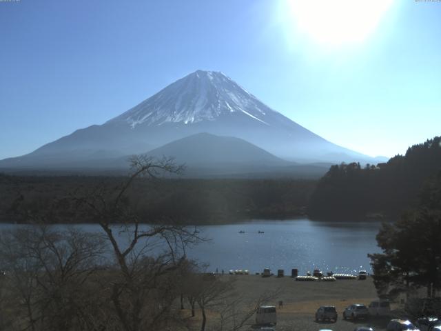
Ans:
<svg viewBox="0 0 441 331"><path fill-rule="evenodd" d="M1 224L0 229L13 228ZM53 225L59 230L72 225ZM88 232L101 232L98 225L73 225ZM293 219L284 221L251 220L245 223L198 226L201 237L210 241L200 243L187 251L187 255L201 263L209 263L208 271L228 272L246 269L272 272L284 269L291 274L297 268L305 274L319 268L323 272L358 272L371 270L368 253L380 252L376 234L380 223L329 222ZM239 231L245 233L239 233ZM258 231L265 233L259 234ZM121 243L125 238L120 237Z"/></svg>

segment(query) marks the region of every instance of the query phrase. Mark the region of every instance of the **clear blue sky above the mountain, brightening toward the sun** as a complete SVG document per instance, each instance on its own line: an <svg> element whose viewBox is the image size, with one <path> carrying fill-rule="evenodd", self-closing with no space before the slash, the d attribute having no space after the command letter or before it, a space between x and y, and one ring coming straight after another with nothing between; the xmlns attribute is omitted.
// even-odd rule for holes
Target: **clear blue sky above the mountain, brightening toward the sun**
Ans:
<svg viewBox="0 0 441 331"><path fill-rule="evenodd" d="M360 1L377 14L369 33L356 8L314 3L1 1L0 159L104 123L197 69L371 156L440 135L441 2L396 0L378 14Z"/></svg>

